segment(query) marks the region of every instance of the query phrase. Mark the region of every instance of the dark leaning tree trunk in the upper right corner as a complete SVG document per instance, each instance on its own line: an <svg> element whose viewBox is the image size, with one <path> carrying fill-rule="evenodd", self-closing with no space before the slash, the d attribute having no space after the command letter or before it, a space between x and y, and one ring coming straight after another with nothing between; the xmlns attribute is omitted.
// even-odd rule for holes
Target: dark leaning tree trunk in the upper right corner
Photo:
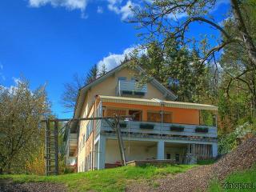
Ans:
<svg viewBox="0 0 256 192"><path fill-rule="evenodd" d="M231 0L232 10L234 12L234 18L238 25L238 31L242 35L242 40L245 43L247 53L251 62L256 66L256 47L254 46L253 39L250 37L250 34L246 30L245 22L242 19L241 10L238 5L238 0Z"/></svg>

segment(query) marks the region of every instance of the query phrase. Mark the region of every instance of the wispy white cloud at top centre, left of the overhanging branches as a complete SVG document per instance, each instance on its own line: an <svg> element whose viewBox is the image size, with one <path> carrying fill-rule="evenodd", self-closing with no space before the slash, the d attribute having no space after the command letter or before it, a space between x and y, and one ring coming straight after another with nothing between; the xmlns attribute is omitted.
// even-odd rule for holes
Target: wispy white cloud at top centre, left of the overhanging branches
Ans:
<svg viewBox="0 0 256 192"><path fill-rule="evenodd" d="M126 5L122 6L122 0L108 0L108 9L114 11L115 14L120 14L122 20L133 16L131 7L139 6L137 3L131 2L130 0L126 2Z"/></svg>

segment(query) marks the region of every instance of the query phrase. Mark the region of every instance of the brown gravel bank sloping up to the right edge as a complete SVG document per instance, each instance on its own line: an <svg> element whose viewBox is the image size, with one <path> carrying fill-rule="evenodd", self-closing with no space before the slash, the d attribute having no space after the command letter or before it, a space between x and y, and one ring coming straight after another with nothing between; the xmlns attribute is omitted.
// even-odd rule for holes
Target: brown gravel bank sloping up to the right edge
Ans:
<svg viewBox="0 0 256 192"><path fill-rule="evenodd" d="M166 178L159 178L154 183L158 187L149 183L133 183L127 187L126 191L174 191L192 192L206 191L210 180L217 178L222 181L226 176L236 170L249 169L256 163L256 137L249 138L243 142L238 149L226 154L218 162L209 166L198 166L186 173L176 174Z"/></svg>

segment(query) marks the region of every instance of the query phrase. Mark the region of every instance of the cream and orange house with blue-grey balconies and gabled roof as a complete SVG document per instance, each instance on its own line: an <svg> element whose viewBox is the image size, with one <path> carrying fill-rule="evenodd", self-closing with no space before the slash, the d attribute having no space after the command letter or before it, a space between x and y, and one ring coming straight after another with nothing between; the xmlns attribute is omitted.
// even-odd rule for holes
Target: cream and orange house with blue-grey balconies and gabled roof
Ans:
<svg viewBox="0 0 256 192"><path fill-rule="evenodd" d="M216 106L175 102L173 92L152 78L138 86L139 66L121 65L79 90L74 118L134 115L120 122L127 162L134 160L214 158L218 155ZM213 116L203 125L202 114ZM208 114L209 114L208 113ZM115 131L104 119L74 122L67 161L78 172L118 166L121 162Z"/></svg>

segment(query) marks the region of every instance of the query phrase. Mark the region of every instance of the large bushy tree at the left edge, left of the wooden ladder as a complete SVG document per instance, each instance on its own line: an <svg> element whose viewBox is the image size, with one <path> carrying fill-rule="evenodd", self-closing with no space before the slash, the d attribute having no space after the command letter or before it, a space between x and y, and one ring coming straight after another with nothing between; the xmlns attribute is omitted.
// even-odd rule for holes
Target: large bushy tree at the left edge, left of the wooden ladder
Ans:
<svg viewBox="0 0 256 192"><path fill-rule="evenodd" d="M0 86L0 173L22 170L44 141L41 120L49 114L45 86L32 91L24 79L11 89Z"/></svg>

